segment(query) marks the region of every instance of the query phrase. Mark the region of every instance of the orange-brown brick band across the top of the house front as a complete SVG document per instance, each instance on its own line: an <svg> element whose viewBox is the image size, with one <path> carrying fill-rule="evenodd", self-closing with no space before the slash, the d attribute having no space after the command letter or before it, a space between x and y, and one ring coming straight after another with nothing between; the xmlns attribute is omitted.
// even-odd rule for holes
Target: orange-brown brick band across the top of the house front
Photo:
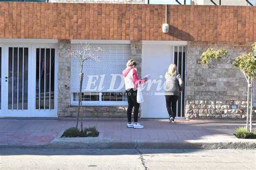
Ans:
<svg viewBox="0 0 256 170"><path fill-rule="evenodd" d="M0 2L0 38L256 41L253 6Z"/></svg>

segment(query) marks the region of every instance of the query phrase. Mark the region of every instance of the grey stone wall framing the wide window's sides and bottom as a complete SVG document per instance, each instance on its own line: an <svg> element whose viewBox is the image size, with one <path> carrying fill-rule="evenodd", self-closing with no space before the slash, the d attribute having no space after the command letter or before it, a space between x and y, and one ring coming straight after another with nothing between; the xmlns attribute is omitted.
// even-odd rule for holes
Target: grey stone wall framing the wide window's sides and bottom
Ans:
<svg viewBox="0 0 256 170"><path fill-rule="evenodd" d="M142 70L142 41L131 41L131 58L137 63L138 75ZM70 74L71 59L68 56L70 40L59 40L58 65L58 116L76 117L77 106L71 105ZM126 117L127 107L87 107L81 108L84 117Z"/></svg>

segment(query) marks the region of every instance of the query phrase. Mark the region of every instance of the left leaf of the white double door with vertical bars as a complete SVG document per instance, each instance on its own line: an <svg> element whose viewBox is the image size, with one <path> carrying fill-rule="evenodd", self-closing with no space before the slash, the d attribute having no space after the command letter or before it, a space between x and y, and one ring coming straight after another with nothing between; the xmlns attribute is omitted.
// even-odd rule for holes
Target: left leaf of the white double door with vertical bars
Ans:
<svg viewBox="0 0 256 170"><path fill-rule="evenodd" d="M29 117L31 79L29 46L3 46L3 116Z"/></svg>

